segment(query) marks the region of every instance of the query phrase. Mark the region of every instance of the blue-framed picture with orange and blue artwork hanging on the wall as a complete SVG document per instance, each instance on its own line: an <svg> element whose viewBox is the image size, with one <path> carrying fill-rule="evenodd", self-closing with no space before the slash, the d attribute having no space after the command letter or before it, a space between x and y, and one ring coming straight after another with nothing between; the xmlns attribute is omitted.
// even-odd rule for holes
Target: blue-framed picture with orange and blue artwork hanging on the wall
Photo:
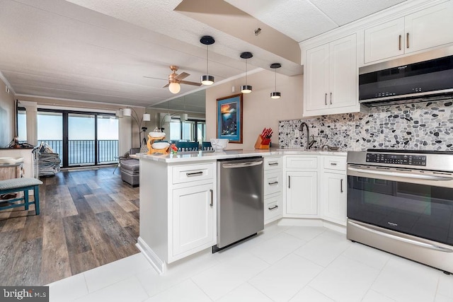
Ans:
<svg viewBox="0 0 453 302"><path fill-rule="evenodd" d="M242 144L242 93L217 98L217 138Z"/></svg>

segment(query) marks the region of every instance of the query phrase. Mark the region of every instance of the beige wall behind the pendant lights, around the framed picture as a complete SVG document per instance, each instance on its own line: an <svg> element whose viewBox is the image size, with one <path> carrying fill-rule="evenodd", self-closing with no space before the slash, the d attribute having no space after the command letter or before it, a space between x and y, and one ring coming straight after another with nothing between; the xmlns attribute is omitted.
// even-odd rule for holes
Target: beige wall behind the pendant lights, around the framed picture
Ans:
<svg viewBox="0 0 453 302"><path fill-rule="evenodd" d="M275 91L275 73L263 70L247 76L247 84L253 92L243 95L243 144L229 144L228 149L254 149L258 135L263 128L272 128L273 146L278 144L278 121L300 119L302 117L302 98L304 79L299 76L277 74L277 91L282 98L273 100L270 93ZM206 91L207 140L215 138L217 123L217 98L240 93L245 78L208 88ZM235 92L231 92L234 86Z"/></svg>

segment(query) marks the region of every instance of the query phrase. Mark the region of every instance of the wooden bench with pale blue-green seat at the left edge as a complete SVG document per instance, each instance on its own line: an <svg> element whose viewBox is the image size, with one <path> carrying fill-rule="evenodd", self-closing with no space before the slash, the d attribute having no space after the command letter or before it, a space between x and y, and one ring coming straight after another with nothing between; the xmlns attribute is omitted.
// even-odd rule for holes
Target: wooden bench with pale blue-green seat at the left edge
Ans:
<svg viewBox="0 0 453 302"><path fill-rule="evenodd" d="M13 199L0 199L0 210L11 209L15 207L25 206L25 210L28 211L28 206L30 204L35 204L35 213L36 215L40 214L40 191L39 185L42 185L41 180L36 178L12 178L10 180L0 180L0 195L8 193L23 192L23 197L16 197ZM28 190L33 190L35 200L30 202L28 200ZM20 202L23 200L23 203L15 204L14 202ZM8 203L7 206L2 207L1 204ZM13 203L13 204L11 204Z"/></svg>

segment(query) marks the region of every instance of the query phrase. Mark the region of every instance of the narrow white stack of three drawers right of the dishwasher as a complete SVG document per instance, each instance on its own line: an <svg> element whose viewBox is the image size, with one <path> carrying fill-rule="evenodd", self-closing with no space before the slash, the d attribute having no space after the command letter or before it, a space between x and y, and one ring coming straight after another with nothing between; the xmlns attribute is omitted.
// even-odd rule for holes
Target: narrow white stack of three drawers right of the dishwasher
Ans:
<svg viewBox="0 0 453 302"><path fill-rule="evenodd" d="M264 158L264 223L282 217L282 156Z"/></svg>

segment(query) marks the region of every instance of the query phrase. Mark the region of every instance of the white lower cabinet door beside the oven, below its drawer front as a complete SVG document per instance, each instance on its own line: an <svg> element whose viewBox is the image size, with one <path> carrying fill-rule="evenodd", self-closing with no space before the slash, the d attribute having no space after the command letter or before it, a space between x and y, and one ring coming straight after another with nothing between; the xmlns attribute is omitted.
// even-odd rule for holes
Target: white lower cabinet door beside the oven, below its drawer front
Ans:
<svg viewBox="0 0 453 302"><path fill-rule="evenodd" d="M345 225L346 223L346 182L345 175L323 173L321 209L323 219Z"/></svg>

